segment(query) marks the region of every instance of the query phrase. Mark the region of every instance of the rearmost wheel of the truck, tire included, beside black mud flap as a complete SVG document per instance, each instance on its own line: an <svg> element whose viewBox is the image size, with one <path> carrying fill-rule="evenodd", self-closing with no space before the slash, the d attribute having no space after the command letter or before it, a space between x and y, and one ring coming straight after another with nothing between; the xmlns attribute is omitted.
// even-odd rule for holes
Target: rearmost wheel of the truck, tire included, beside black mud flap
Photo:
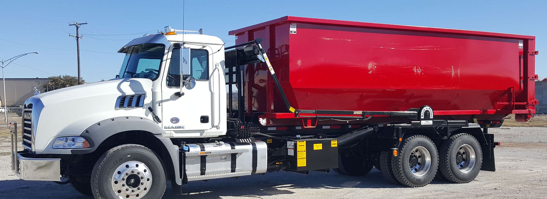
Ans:
<svg viewBox="0 0 547 199"><path fill-rule="evenodd" d="M439 170L450 182L469 183L480 172L482 150L472 135L451 136L441 145L439 154Z"/></svg>

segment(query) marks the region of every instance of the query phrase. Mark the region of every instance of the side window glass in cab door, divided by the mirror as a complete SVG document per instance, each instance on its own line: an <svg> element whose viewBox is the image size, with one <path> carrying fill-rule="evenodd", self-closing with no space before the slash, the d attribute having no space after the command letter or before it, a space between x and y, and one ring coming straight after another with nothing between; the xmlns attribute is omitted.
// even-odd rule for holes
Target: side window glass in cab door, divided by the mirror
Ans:
<svg viewBox="0 0 547 199"><path fill-rule="evenodd" d="M173 49L171 53L171 62L167 71L167 86L181 86L181 49ZM206 50L190 50L190 75L196 80L207 80L209 76L208 69L209 58Z"/></svg>

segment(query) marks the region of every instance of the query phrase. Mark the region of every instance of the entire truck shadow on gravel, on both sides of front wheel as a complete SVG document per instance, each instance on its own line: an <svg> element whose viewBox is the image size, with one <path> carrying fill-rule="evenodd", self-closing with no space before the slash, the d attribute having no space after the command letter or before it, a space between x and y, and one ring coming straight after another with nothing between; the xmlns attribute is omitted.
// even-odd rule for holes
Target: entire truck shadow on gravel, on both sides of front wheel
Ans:
<svg viewBox="0 0 547 199"><path fill-rule="evenodd" d="M432 184L448 182L434 180ZM408 188L407 186L386 182L382 173L373 169L362 177L342 176L335 172L311 172L309 175L274 172L265 175L256 174L240 178L213 179L208 182L189 182L182 186L181 196L173 195L171 183L163 198L202 198L216 199L222 196L274 196L293 194L293 189L343 189L343 188ZM0 181L0 197L2 198L93 198L84 196L74 190L71 185L59 185L53 182L2 180Z"/></svg>

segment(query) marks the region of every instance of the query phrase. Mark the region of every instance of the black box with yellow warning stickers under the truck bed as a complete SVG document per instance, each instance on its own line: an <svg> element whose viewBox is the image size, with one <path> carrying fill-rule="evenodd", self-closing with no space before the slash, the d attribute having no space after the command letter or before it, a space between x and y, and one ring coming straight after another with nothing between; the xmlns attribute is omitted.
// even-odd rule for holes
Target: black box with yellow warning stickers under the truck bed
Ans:
<svg viewBox="0 0 547 199"><path fill-rule="evenodd" d="M333 138L287 141L288 171L338 168L338 142Z"/></svg>

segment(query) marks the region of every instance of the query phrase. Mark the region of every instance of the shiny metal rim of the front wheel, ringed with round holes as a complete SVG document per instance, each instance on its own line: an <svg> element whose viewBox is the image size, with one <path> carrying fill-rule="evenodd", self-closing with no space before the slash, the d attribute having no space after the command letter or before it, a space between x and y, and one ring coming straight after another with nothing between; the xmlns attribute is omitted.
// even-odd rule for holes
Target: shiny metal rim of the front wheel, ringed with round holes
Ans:
<svg viewBox="0 0 547 199"><path fill-rule="evenodd" d="M152 186L152 173L142 162L129 161L114 171L111 183L119 198L142 198Z"/></svg>

